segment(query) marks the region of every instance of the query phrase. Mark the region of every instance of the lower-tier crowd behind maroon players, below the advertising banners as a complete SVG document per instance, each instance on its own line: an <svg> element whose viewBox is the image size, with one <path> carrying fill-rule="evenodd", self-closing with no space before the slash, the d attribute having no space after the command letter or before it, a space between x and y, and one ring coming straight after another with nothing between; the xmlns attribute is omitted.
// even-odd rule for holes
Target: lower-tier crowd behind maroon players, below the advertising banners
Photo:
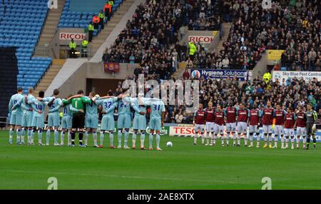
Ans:
<svg viewBox="0 0 321 204"><path fill-rule="evenodd" d="M136 79L136 76L128 76L128 79ZM155 75L145 76L145 81L154 79L158 80ZM171 78L175 81L175 78ZM184 81L183 78L180 78ZM291 107L297 110L298 106L307 106L312 104L312 108L321 114L321 81L314 78L312 81L306 82L303 78L288 78L287 80L265 82L263 77L258 76L251 81L239 81L236 76L234 78L224 79L205 79L201 77L200 81L200 103L204 104L204 108L208 106L208 102L212 101L213 106L218 104L225 108L228 103L239 106L241 102L245 103L246 108L253 108L256 103L258 108L264 108L267 101L271 101L272 106L281 103L282 108L286 110ZM160 81L158 81L160 82ZM149 91L145 87L145 91ZM116 94L121 93L121 83L118 85ZM160 91L161 93L161 91ZM175 91L177 96L178 91ZM146 115L147 118L149 114ZM193 113L186 111L186 106L166 106L165 123L193 123ZM320 121L321 125L321 121Z"/></svg>

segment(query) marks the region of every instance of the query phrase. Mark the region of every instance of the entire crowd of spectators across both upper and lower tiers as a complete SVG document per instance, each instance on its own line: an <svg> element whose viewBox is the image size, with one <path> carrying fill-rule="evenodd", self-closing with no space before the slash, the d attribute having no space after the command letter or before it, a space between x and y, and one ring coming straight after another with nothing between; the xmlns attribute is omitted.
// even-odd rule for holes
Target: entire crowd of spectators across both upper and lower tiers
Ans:
<svg viewBox="0 0 321 204"><path fill-rule="evenodd" d="M169 79L175 61L185 61L187 68L253 69L266 49L284 49L282 66L287 70L320 70L320 3L317 0L272 1L272 9L263 9L261 1L146 1L138 6L132 21L106 49L103 61L138 63L133 76L143 73L148 79ZM223 8L218 12L215 6ZM221 18L222 17L222 18ZM210 19L210 21L208 21ZM221 20L223 19L223 20ZM228 40L222 51L206 51L196 44L197 52L190 58L188 47L180 44L180 29L220 30L221 21L232 22ZM184 78L190 78L185 71ZM306 83L303 79L270 81L262 78L240 82L237 78L205 80L200 78L200 102L207 106L235 106L244 102L248 108L257 103L263 108L267 101L282 103L284 108L312 103L321 113L320 81ZM185 106L167 106L165 122L190 123L193 116Z"/></svg>

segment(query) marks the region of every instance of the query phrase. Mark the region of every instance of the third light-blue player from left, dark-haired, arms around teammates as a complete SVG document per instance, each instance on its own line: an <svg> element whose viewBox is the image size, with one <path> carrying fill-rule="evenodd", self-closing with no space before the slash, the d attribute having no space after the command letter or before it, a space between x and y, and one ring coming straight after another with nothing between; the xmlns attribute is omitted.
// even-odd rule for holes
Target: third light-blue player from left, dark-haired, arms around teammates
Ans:
<svg viewBox="0 0 321 204"><path fill-rule="evenodd" d="M44 91L39 91L39 98L44 98ZM42 131L44 128L44 112L48 102L33 99L28 101L28 104L30 104L34 109L34 116L31 123L31 126L33 127L31 132L31 142L34 143L34 134L36 133L36 128L38 128L38 144L39 146L44 146L42 143Z"/></svg>

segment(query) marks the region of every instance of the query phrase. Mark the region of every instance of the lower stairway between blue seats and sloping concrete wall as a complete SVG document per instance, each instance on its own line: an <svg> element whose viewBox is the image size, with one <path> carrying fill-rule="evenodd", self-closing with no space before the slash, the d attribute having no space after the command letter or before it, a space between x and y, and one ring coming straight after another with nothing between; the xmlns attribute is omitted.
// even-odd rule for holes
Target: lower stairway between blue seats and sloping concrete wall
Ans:
<svg viewBox="0 0 321 204"><path fill-rule="evenodd" d="M56 77L57 73L60 71L61 67L63 66L63 63L65 63L65 59L53 59L51 66L47 69L46 73L44 74L44 77L41 78L39 83L37 84L34 94L35 96L38 96L39 91L46 91L51 82Z"/></svg>

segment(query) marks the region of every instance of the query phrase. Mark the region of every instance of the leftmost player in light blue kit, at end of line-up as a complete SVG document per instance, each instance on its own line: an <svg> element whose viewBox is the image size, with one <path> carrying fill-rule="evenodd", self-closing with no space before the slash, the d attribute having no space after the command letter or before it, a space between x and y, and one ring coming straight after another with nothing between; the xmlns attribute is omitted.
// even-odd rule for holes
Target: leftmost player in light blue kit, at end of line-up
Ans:
<svg viewBox="0 0 321 204"><path fill-rule="evenodd" d="M20 144L21 137L21 121L22 121L22 109L21 106L14 105L24 98L22 95L22 87L17 88L17 93L11 96L9 101L9 114L10 114L10 131L9 131L9 143L12 144L12 138L14 137L14 128L16 128L16 143Z"/></svg>

